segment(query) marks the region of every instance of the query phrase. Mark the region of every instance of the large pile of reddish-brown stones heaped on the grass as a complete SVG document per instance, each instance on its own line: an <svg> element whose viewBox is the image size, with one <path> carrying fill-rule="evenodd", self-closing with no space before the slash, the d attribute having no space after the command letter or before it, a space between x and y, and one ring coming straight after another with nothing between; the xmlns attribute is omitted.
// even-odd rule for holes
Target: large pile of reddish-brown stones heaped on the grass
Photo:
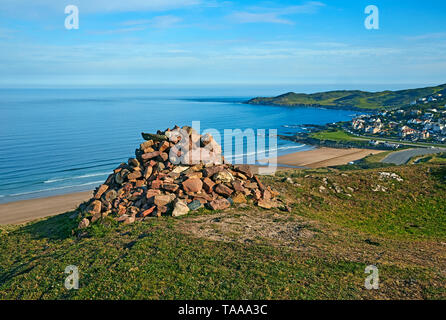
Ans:
<svg viewBox="0 0 446 320"><path fill-rule="evenodd" d="M146 217L178 217L203 206L223 210L252 201L265 209L277 207L278 193L248 165L226 163L211 135L175 127L142 136L146 141L135 157L121 163L79 207L80 229L107 216L130 224Z"/></svg>

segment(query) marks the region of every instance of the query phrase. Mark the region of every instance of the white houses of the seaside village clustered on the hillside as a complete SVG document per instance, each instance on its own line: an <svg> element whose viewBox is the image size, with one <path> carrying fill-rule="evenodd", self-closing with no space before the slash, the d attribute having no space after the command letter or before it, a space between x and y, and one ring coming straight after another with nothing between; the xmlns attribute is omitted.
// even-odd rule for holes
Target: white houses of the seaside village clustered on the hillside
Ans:
<svg viewBox="0 0 446 320"><path fill-rule="evenodd" d="M406 110L382 111L373 115L360 115L351 122L351 131L363 135L398 138L409 141L432 141L446 143L446 105L439 105L442 94L421 98ZM415 107L418 103L423 107ZM426 103L424 103L426 102ZM435 103L424 106L429 102ZM379 143L375 140L371 143Z"/></svg>

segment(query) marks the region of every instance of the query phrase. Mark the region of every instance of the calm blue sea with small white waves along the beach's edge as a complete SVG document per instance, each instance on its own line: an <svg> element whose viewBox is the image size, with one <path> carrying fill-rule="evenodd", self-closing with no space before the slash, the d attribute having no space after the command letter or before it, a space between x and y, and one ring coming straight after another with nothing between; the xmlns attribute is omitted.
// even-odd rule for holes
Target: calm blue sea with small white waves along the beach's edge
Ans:
<svg viewBox="0 0 446 320"><path fill-rule="evenodd" d="M142 131L199 120L202 130L261 128L287 134L299 130L298 124L348 120L354 114L244 105L240 101L283 91L241 91L0 90L0 202L91 190L134 155ZM309 148L278 142L279 155Z"/></svg>

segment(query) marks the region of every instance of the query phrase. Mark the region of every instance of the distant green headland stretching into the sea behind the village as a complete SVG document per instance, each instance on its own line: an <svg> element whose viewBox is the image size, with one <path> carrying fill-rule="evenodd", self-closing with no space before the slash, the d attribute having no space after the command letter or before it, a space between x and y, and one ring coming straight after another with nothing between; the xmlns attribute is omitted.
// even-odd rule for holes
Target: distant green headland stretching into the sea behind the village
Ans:
<svg viewBox="0 0 446 320"><path fill-rule="evenodd" d="M366 92L342 90L314 94L286 93L277 97L254 98L248 104L325 107L350 110L394 109L410 105L413 101L432 95L446 95L446 84L399 91Z"/></svg>

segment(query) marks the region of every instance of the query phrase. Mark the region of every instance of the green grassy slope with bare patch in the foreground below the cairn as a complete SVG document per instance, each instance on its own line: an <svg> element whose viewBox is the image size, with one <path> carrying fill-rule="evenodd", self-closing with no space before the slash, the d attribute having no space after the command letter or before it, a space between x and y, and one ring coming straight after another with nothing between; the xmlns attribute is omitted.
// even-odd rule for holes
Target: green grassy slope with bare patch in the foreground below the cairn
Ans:
<svg viewBox="0 0 446 320"><path fill-rule="evenodd" d="M379 171L405 181L380 181ZM446 298L445 176L441 164L287 171L264 180L292 213L202 210L95 226L81 239L73 213L4 227L0 298ZM377 184L388 192L371 191ZM377 291L364 289L370 264L380 270ZM78 291L63 287L67 265L79 267Z"/></svg>

